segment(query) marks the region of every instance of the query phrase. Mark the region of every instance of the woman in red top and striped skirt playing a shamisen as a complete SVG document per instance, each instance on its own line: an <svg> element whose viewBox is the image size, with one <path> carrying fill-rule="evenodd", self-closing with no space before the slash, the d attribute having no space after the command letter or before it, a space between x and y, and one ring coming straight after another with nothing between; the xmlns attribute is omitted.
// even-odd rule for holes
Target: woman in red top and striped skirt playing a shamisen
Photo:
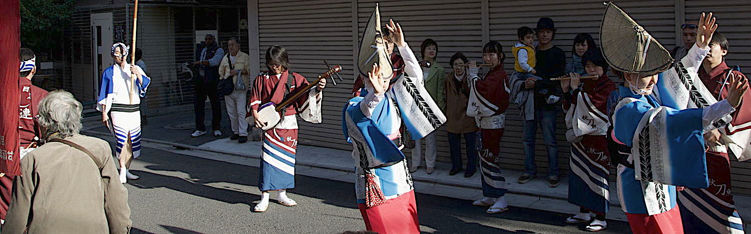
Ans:
<svg viewBox="0 0 751 234"><path fill-rule="evenodd" d="M248 100L251 114L255 119L255 127L266 126L266 122L258 119L261 105L281 104L285 94L294 94L308 86L308 81L300 74L289 71L287 49L274 45L266 49L267 73L261 73L255 78ZM269 207L269 193L279 190L279 203L286 206L297 205L287 196L287 189L294 188L294 161L297 150L297 115L305 121L314 124L321 123L321 91L326 87L326 80L322 79L318 87L310 89L307 95L300 96L297 101L282 111L282 121L275 127L266 130L263 136L261 160L261 176L258 178L258 189L261 190L261 202L253 211L263 212Z"/></svg>

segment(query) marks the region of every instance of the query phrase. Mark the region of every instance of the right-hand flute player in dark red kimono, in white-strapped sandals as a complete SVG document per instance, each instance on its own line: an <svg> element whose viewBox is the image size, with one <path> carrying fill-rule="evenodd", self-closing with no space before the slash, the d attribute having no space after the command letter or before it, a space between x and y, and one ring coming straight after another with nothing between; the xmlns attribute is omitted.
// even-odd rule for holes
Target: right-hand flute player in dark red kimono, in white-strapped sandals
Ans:
<svg viewBox="0 0 751 234"><path fill-rule="evenodd" d="M566 140L571 143L571 178L569 202L579 206L579 213L566 218L566 223L590 224L584 229L599 232L608 227L605 213L610 202L608 175L610 157L605 137L608 118L608 97L616 89L608 78L608 62L602 52L592 48L581 58L584 70L597 79L580 80L578 73L569 73L571 80L562 80L566 94L563 110L566 111ZM590 212L595 214L593 219Z"/></svg>

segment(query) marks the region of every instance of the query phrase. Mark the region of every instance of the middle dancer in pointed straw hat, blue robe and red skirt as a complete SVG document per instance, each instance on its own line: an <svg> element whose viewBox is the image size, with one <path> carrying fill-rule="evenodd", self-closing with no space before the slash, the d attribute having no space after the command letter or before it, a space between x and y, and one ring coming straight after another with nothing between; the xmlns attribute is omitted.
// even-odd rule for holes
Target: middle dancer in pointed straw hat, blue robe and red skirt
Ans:
<svg viewBox="0 0 751 234"><path fill-rule="evenodd" d="M420 233L412 176L401 151L400 123L404 122L413 139L419 139L446 118L424 89L418 60L404 40L402 27L394 21L387 29L405 68L403 73L391 69L379 18L376 5L358 55L360 72L369 71L363 79L366 90L363 97L348 101L342 126L354 146L355 191L366 228L377 233Z"/></svg>

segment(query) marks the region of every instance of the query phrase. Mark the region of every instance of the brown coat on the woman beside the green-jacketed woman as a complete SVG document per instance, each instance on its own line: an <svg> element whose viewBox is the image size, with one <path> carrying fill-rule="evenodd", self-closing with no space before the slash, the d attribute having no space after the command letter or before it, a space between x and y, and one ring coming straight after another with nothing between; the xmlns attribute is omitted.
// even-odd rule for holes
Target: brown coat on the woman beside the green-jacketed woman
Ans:
<svg viewBox="0 0 751 234"><path fill-rule="evenodd" d="M446 130L450 133L471 133L479 130L475 118L466 115L469 103L469 96L466 94L469 94L469 85L466 83L467 72L464 74L463 82L454 77L454 71L446 74Z"/></svg>

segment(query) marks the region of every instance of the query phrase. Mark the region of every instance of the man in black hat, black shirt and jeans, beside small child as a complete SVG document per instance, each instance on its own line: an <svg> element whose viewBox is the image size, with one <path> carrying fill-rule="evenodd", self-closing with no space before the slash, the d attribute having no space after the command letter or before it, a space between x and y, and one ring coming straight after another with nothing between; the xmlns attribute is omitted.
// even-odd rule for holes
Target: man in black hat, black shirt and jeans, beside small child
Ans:
<svg viewBox="0 0 751 234"><path fill-rule="evenodd" d="M548 169L547 184L550 187L557 187L559 184L558 170L558 143L556 142L556 103L559 97L553 95L557 92L560 84L553 82L550 78L561 77L566 70L566 53L563 49L553 45L556 27L553 20L542 17L537 22L537 65L535 70L538 77L528 78L520 86L522 89L535 90L535 115L524 116L524 168L525 172L519 177L519 183L524 184L535 178L537 166L535 165L535 133L537 126L542 130L542 136L547 148Z"/></svg>

